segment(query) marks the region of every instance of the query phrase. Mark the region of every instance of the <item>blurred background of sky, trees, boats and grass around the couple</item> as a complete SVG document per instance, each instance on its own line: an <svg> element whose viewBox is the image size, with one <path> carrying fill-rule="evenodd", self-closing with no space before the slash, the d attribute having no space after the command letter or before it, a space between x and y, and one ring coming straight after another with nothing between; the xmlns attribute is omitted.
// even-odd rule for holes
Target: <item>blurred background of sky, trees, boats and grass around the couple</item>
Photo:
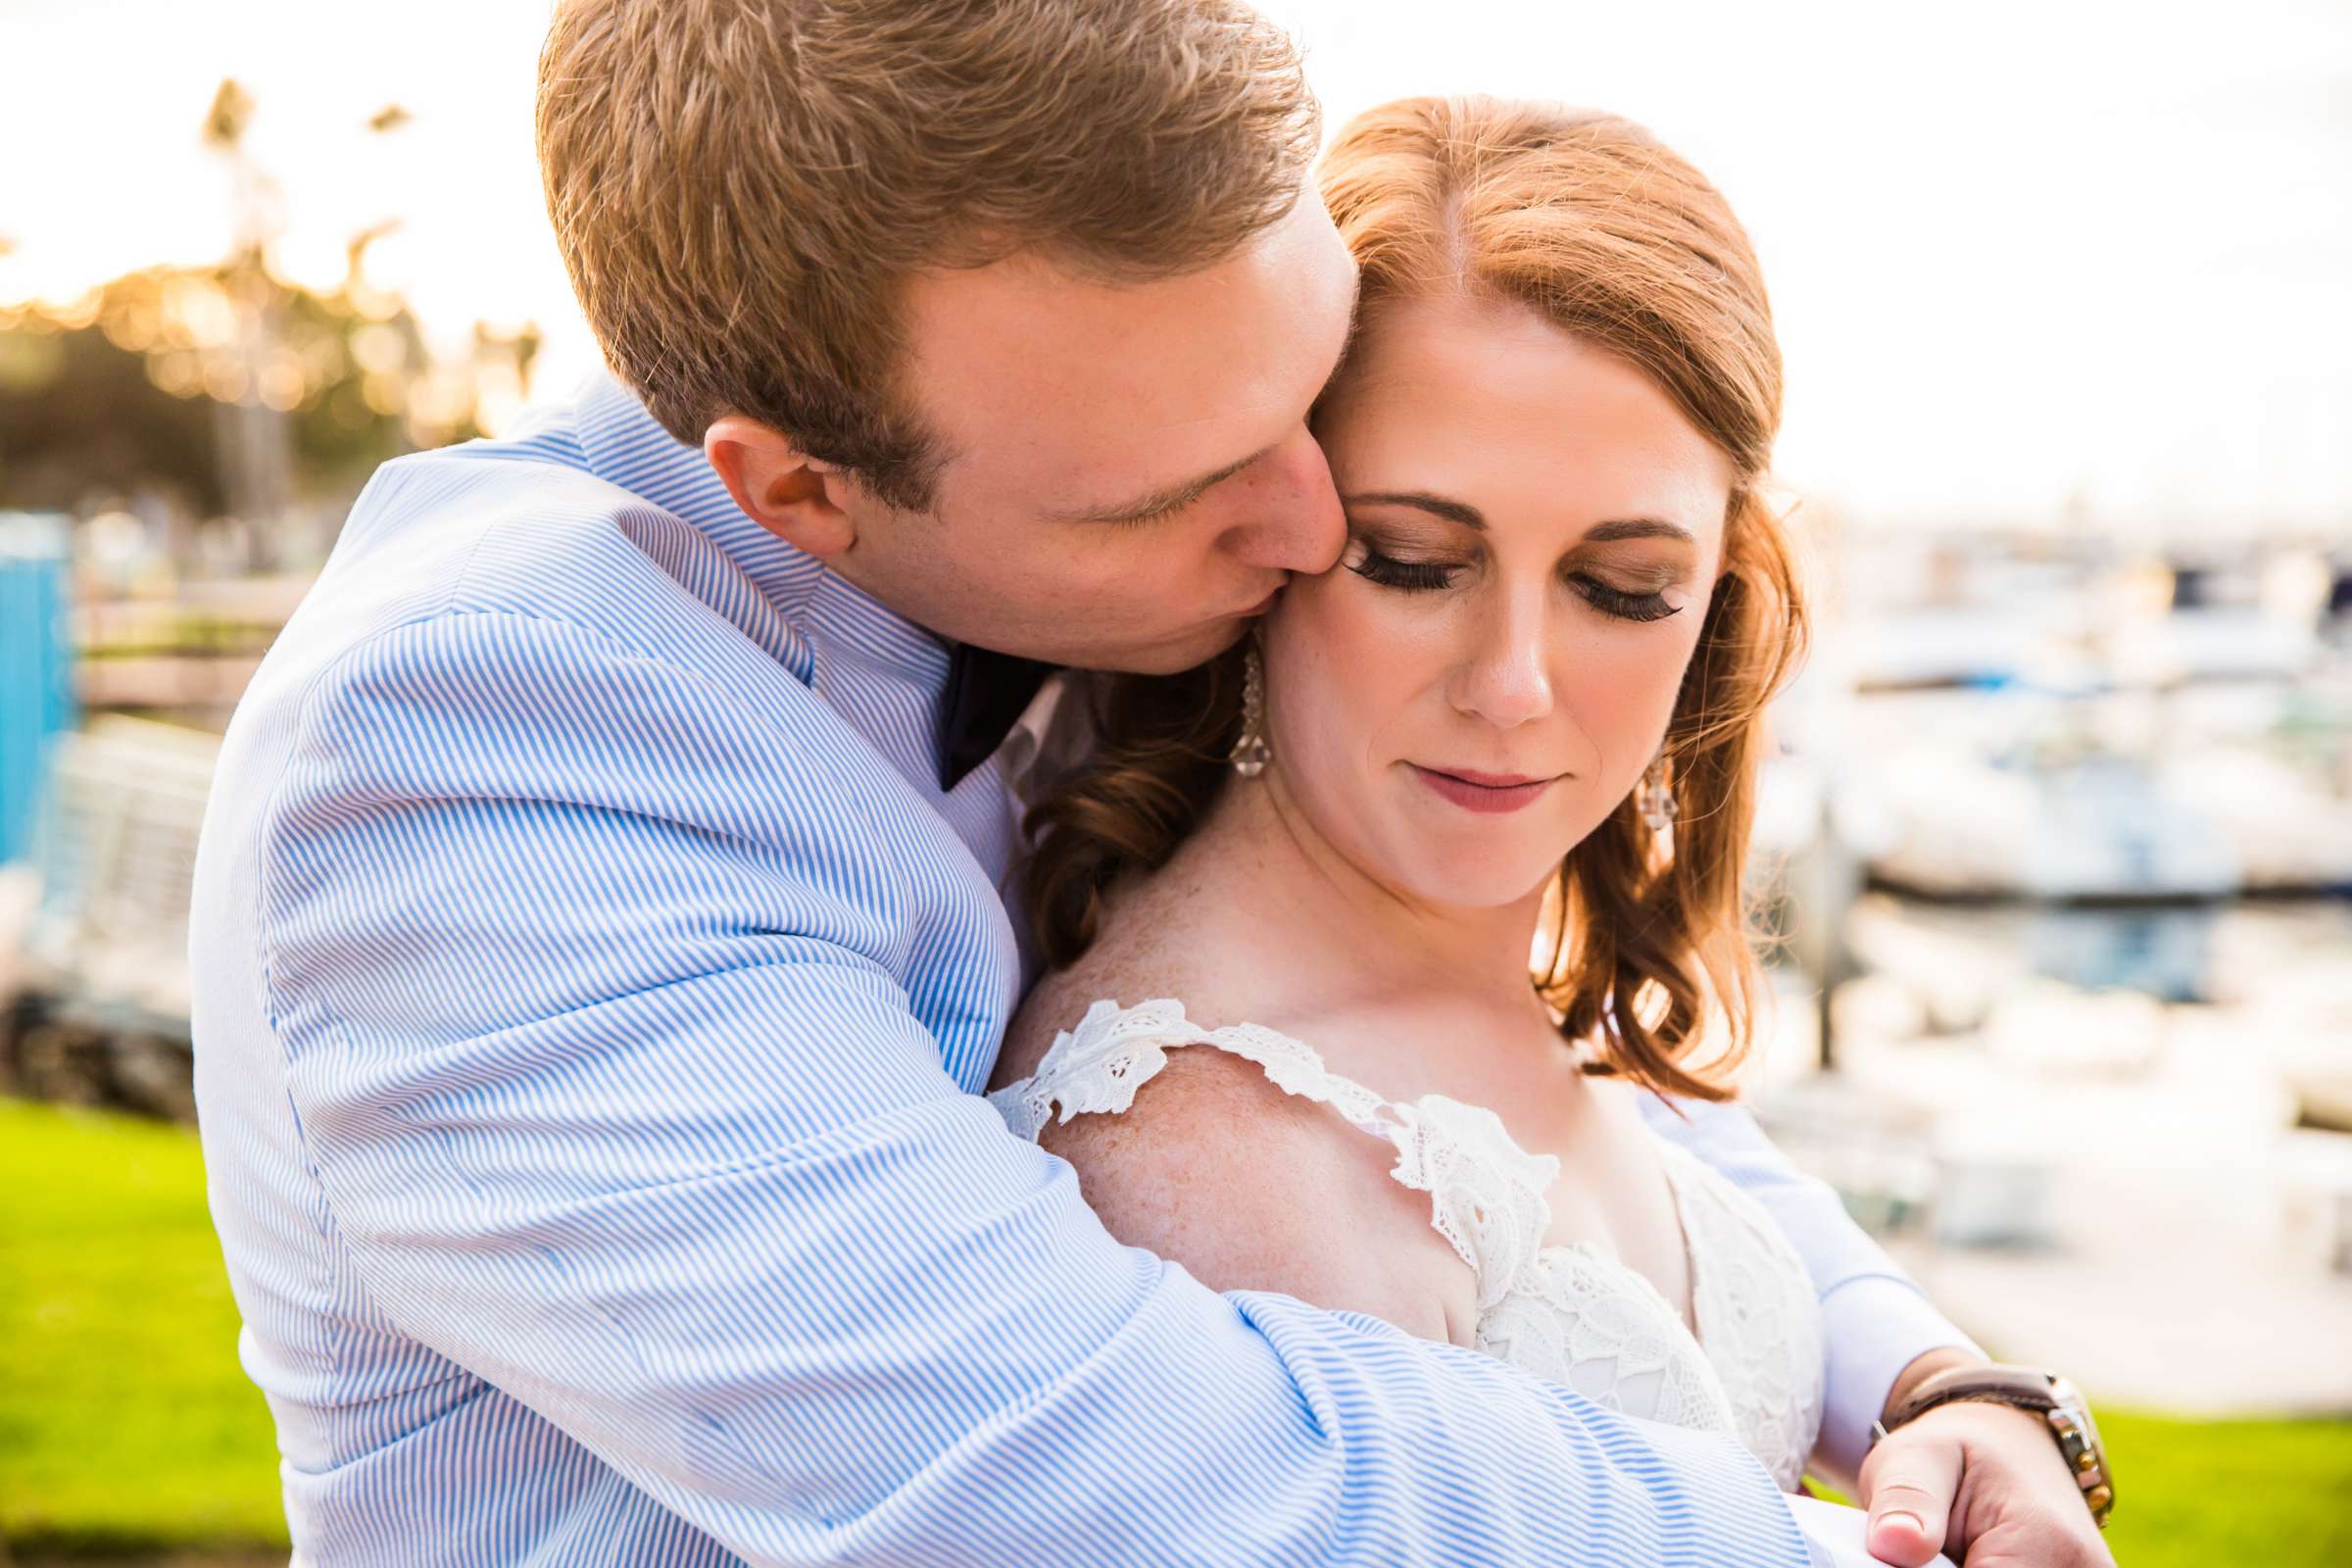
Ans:
<svg viewBox="0 0 2352 1568"><path fill-rule="evenodd" d="M1585 101L1731 195L1823 609L1759 1112L2089 1387L2119 1561L2352 1559L2352 9L1263 9L1334 125ZM595 367L546 14L0 0L0 1561L282 1559L193 827L369 468Z"/></svg>

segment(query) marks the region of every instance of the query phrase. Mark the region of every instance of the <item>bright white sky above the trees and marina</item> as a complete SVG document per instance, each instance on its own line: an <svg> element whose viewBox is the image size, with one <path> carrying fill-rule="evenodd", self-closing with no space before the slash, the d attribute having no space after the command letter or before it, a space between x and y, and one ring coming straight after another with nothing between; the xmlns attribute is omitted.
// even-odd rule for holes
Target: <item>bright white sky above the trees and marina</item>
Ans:
<svg viewBox="0 0 2352 1568"><path fill-rule="evenodd" d="M1649 122L1731 195L1790 360L1783 475L1858 520L2352 536L2352 7L2340 0L1261 0L1334 125L1484 89ZM0 0L0 299L216 256L223 75L282 266L593 364L532 162L548 0ZM416 120L369 136L397 101Z"/></svg>

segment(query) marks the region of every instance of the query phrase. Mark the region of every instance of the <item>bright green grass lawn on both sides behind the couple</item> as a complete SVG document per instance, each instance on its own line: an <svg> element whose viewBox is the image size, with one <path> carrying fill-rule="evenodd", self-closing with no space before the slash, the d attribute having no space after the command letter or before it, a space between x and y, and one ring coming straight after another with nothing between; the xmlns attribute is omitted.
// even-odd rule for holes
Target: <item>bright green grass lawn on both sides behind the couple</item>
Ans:
<svg viewBox="0 0 2352 1568"><path fill-rule="evenodd" d="M195 1135L0 1100L0 1544L282 1547ZM2352 1563L2352 1422L2103 1408L2100 1432L2124 1568Z"/></svg>

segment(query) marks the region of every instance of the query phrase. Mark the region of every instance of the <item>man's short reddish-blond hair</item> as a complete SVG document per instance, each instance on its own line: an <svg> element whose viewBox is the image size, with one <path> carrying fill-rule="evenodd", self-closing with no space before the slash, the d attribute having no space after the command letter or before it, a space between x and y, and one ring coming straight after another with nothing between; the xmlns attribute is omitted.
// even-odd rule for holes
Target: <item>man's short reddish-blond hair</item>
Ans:
<svg viewBox="0 0 2352 1568"><path fill-rule="evenodd" d="M903 282L1209 266L1298 200L1298 52L1240 0L562 0L539 160L572 287L670 435L748 414L924 510Z"/></svg>

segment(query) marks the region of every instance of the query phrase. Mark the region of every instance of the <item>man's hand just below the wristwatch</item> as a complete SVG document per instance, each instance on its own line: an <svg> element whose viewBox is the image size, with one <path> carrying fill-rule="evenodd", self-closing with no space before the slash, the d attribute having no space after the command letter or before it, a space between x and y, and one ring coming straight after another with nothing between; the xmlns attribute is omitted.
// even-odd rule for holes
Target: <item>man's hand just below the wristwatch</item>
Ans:
<svg viewBox="0 0 2352 1568"><path fill-rule="evenodd" d="M2049 1422L1959 1401L1886 1434L1863 1460L1865 1544L1898 1568L1950 1552L1969 1568L2114 1568Z"/></svg>

